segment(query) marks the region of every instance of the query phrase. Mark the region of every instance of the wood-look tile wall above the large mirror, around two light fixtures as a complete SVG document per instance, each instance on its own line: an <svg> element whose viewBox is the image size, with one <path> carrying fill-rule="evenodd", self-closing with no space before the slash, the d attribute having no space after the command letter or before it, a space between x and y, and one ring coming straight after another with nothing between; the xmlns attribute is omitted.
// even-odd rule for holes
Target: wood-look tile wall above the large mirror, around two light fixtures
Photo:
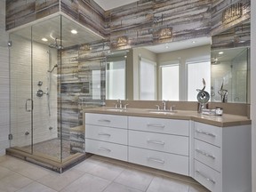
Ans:
<svg viewBox="0 0 256 192"><path fill-rule="evenodd" d="M211 6L211 0L140 0L110 10L107 12L110 43L112 48L118 48L119 36L127 36L130 47L209 36ZM172 38L158 40L161 28L172 28Z"/></svg>

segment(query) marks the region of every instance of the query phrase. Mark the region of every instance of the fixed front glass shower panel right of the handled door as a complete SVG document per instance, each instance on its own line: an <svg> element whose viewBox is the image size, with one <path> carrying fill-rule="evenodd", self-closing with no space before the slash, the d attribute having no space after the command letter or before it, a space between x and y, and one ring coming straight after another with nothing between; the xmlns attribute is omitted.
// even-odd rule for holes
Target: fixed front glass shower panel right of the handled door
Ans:
<svg viewBox="0 0 256 192"><path fill-rule="evenodd" d="M62 160L57 122L60 41L60 16L32 26L33 152L58 162Z"/></svg>

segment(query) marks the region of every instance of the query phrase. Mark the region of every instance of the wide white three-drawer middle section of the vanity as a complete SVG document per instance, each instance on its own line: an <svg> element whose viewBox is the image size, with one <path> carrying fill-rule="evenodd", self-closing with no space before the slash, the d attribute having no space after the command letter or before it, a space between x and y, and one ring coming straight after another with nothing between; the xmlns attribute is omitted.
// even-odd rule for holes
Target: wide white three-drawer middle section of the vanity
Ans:
<svg viewBox="0 0 256 192"><path fill-rule="evenodd" d="M167 172L189 173L189 121L128 117L128 161Z"/></svg>

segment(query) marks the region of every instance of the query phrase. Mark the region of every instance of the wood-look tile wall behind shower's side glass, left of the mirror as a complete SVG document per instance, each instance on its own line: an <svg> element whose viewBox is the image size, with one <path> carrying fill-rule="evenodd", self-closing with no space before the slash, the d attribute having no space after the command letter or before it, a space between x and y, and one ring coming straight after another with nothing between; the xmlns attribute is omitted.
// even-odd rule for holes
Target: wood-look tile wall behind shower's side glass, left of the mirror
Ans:
<svg viewBox="0 0 256 192"><path fill-rule="evenodd" d="M58 68L58 73L61 76L58 84L62 138L70 140L72 152L84 152L84 129L81 129L83 108L101 106L105 98L105 60L97 57L97 52L92 54L94 58L90 60L83 45L62 50L60 54L61 68ZM95 71L99 78L96 81L93 76Z"/></svg>

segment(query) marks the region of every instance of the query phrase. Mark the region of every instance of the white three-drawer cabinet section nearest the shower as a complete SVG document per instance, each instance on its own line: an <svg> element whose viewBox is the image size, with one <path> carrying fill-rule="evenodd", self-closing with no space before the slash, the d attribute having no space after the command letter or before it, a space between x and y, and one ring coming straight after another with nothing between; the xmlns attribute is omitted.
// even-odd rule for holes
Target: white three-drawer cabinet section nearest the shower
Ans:
<svg viewBox="0 0 256 192"><path fill-rule="evenodd" d="M128 160L127 116L85 113L85 152Z"/></svg>

